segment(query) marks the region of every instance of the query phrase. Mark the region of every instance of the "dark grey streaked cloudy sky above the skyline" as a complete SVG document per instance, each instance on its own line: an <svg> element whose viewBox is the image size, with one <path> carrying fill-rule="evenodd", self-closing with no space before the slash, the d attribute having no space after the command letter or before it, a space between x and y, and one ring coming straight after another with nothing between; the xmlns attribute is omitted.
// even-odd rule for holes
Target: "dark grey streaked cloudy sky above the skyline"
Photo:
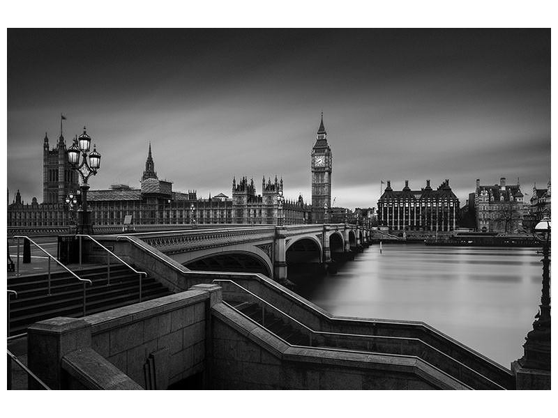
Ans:
<svg viewBox="0 0 558 418"><path fill-rule="evenodd" d="M42 201L61 113L102 155L91 189L139 187L151 142L174 191L277 175L310 202L322 111L335 206L550 180L550 29L8 29L7 70L10 201Z"/></svg>

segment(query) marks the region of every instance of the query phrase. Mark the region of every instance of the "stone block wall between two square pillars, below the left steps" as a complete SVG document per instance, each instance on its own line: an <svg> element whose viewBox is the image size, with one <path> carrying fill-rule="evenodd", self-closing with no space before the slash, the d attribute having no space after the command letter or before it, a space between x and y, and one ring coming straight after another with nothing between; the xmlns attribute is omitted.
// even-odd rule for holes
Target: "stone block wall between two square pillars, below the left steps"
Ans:
<svg viewBox="0 0 558 418"><path fill-rule="evenodd" d="M167 349L156 366L172 385L204 370L207 302L186 291L91 315L91 347L144 388L149 355Z"/></svg>

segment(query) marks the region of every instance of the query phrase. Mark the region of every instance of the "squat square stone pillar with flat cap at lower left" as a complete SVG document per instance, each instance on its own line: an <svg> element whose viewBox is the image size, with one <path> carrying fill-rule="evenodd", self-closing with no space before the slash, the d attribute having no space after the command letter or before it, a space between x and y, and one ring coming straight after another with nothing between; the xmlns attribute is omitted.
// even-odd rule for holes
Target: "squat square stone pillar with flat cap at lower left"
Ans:
<svg viewBox="0 0 558 418"><path fill-rule="evenodd" d="M79 318L42 320L27 329L27 364L51 389L63 387L62 357L91 347L91 325ZM38 389L29 378L29 389Z"/></svg>

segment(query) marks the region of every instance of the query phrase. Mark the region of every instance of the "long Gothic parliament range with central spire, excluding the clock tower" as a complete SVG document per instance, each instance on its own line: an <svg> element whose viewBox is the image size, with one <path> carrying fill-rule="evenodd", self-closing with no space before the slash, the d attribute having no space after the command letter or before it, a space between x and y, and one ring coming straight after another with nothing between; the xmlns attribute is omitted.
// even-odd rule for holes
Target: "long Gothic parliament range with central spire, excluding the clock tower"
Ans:
<svg viewBox="0 0 558 418"><path fill-rule="evenodd" d="M66 148L61 144L60 142L58 149L65 156ZM49 160L45 160L47 173L53 170L54 160L51 160L49 154ZM77 183L67 182L65 176L63 175L59 189L52 186L50 181L47 182L45 196L54 199L52 203L39 204L33 198L31 204L24 204L19 190L13 203L9 203L8 191L8 226L73 224L77 214L66 206L64 199L69 192L77 192L79 187ZM282 180L280 183L277 178L275 183L271 183L271 179L268 183L264 180L262 195L255 194L253 181L248 184L246 178L243 178L238 186L235 183L236 180L233 180L232 199L223 193L213 198L210 195L209 199L199 199L195 190L187 193L175 192L172 182L158 178L149 144L140 188L112 185L109 189L90 189L87 201L93 225L120 225L126 215L132 215L133 224L277 224L277 196L279 189L282 189ZM54 193L55 190L63 194L59 196ZM281 213L284 224L287 225L303 224L311 216L310 207L304 203L302 196L296 202L285 201Z"/></svg>

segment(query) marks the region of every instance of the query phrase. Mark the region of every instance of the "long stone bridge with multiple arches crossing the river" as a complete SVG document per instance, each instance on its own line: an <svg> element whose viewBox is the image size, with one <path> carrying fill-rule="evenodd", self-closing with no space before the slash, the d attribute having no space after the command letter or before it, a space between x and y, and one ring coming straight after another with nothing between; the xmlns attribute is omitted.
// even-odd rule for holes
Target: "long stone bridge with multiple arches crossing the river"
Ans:
<svg viewBox="0 0 558 418"><path fill-rule="evenodd" d="M128 254L132 245L171 258L189 270L261 273L276 281L287 279L289 265L334 269L336 262L353 258L371 239L371 231L354 224L208 225L179 231L96 235L96 240L130 260L139 255ZM104 254L91 242L84 243L84 253L89 261Z"/></svg>

